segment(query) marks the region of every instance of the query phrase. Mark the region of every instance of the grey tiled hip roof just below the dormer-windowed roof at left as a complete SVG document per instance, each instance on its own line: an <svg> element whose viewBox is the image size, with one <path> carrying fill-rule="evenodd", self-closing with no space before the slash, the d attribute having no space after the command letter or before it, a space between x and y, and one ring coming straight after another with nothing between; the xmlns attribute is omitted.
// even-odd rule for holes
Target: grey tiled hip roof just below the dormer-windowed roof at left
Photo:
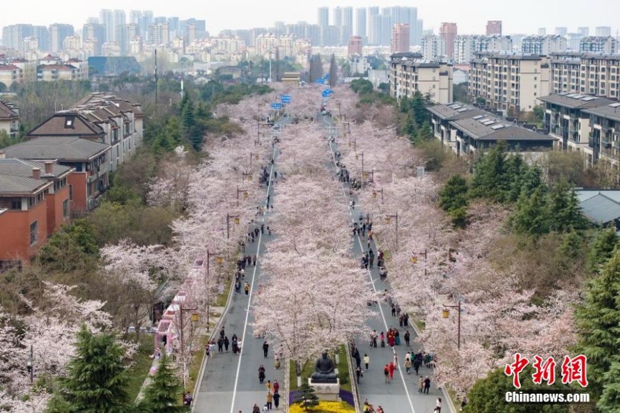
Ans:
<svg viewBox="0 0 620 413"><path fill-rule="evenodd" d="M110 145L77 136L42 136L5 149L8 158L90 160L110 149Z"/></svg>

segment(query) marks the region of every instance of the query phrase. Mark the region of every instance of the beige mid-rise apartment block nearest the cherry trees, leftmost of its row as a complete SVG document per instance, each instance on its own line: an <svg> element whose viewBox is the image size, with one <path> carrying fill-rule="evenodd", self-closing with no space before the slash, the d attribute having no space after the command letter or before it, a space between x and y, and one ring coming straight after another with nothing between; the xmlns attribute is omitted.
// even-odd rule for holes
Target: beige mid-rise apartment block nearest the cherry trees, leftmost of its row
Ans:
<svg viewBox="0 0 620 413"><path fill-rule="evenodd" d="M453 92L453 65L445 61L428 61L414 53L390 56L390 95L412 97L416 92L428 94L435 103L450 103Z"/></svg>

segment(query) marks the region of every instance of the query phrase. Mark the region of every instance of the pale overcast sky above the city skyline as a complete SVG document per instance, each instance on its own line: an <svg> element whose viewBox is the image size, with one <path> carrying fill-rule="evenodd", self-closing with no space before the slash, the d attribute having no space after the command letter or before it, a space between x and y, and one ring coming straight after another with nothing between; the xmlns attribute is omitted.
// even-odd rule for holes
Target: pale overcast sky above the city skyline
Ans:
<svg viewBox="0 0 620 413"><path fill-rule="evenodd" d="M101 5L101 6L99 6ZM130 5L130 6L128 6ZM418 17L424 19L424 29L437 32L442 21L456 22L462 34L484 33L487 20L504 21L504 34L534 34L545 27L552 32L556 26L611 26L613 35L620 29L619 0L84 0L10 1L0 14L0 26L14 23L50 25L70 23L81 28L87 17L99 17L99 8L123 9L129 19L130 10L153 10L155 16L195 17L207 22L207 30L272 27L273 21L307 21L317 23L320 6L417 6ZM331 12L330 12L331 19Z"/></svg>

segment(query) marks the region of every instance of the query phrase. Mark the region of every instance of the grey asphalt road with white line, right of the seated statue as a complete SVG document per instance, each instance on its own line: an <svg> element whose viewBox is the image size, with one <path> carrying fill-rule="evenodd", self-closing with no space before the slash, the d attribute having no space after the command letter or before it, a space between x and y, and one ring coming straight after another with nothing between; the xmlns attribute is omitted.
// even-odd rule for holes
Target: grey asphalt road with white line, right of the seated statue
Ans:
<svg viewBox="0 0 620 413"><path fill-rule="evenodd" d="M329 117L323 117L322 123L326 127L330 127L333 125L333 120ZM331 133L335 136L338 134L337 128L331 130ZM332 153L338 151L337 143L332 143L330 146ZM344 196L347 196L347 199L349 199L348 189L347 191L343 190L343 193ZM360 213L362 213L364 218L366 216L361 209L362 205L359 204L358 198L356 198L355 195L353 195L353 197L353 200L355 200L355 207L350 211L351 224L353 224L353 222L360 222ZM367 238L360 235L356 236L353 242L353 257L356 259L361 257L362 253L366 251L366 248ZM378 248L374 241L371 242L371 248L375 252L376 257L378 255ZM387 279L386 281L381 281L379 270L376 265L374 268L369 268L367 273L375 292L386 289L391 290ZM394 350L392 350L387 343L384 348L381 348L380 342L378 343L378 348L371 348L369 345L370 337L368 336L358 337L356 339L358 350L362 357L362 369L364 368L364 354L368 354L370 357L369 370L364 371L364 377L360 379L360 384L358 386L362 403L367 399L374 407L378 407L379 405L383 407L386 413L431 413L435 409L437 397L441 397L442 410L445 412L451 411L448 407L448 403L444 401L444 393L433 383L433 371L430 368L420 367L419 370L420 376L426 377L428 375L431 378L431 389L428 394L419 394L417 392L420 376L415 374L413 368L411 369L411 374L406 374L405 372L404 357L406 352L411 350L415 353L420 350L420 345L415 343L415 337L417 337L417 335L413 327L410 325L409 327L401 328L397 317L392 317L391 315L391 307L384 300L379 300L379 303L374 304L373 308L377 311L378 317L366 320L366 326L377 330L378 334L381 332L386 333L389 328L397 328L400 332L401 343L400 346L394 346ZM406 330L409 330L411 334L410 347L406 347L404 343L404 333ZM399 364L398 370L394 372L391 383L385 383L383 368L387 363L393 361L394 353L397 354Z"/></svg>

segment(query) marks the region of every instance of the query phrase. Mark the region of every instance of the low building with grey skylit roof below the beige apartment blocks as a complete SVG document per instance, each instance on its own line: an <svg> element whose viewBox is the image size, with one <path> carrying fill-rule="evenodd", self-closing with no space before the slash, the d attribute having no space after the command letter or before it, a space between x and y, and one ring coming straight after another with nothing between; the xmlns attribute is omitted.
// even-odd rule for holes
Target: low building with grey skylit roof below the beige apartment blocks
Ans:
<svg viewBox="0 0 620 413"><path fill-rule="evenodd" d="M519 126L497 114L455 102L427 108L433 134L458 155L473 155L506 142L510 151L538 153L552 149L554 138Z"/></svg>

